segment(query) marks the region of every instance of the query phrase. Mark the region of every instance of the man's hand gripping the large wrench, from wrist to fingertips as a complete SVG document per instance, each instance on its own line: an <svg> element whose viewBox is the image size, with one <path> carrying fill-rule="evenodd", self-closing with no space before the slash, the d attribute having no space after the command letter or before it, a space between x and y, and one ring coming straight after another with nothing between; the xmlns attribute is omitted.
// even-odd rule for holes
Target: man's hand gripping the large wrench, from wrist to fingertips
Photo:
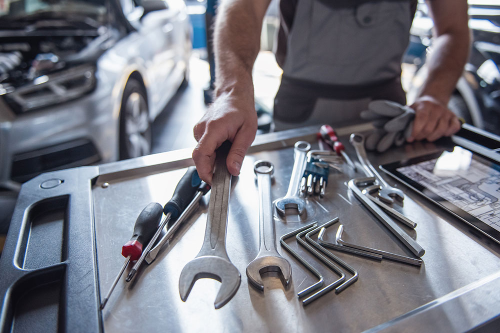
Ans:
<svg viewBox="0 0 500 333"><path fill-rule="evenodd" d="M225 141L232 142L227 155L227 170L239 175L241 163L257 131L257 114L253 100L244 101L229 93L219 95L193 128L197 146L192 159L199 178L211 184L215 150Z"/></svg>

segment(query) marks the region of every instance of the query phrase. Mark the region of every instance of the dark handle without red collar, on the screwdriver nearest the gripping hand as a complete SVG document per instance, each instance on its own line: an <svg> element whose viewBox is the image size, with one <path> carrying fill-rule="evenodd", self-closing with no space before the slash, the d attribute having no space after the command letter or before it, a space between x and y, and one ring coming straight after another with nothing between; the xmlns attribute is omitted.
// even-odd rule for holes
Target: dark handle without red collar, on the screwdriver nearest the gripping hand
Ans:
<svg viewBox="0 0 500 333"><path fill-rule="evenodd" d="M187 168L186 173L175 187L172 198L163 207L163 213L165 215L170 213L171 220L175 220L179 217L191 202L200 184L201 179L198 176L196 168L193 166Z"/></svg>

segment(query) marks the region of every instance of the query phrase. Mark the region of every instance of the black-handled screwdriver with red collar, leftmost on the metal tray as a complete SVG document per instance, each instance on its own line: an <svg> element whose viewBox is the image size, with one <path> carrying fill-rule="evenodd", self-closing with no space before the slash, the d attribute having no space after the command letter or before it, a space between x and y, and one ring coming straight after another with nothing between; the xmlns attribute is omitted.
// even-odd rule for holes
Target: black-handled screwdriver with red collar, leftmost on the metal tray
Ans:
<svg viewBox="0 0 500 333"><path fill-rule="evenodd" d="M107 300L109 300L114 287L116 287L116 284L121 278L121 275L123 274L123 271L127 267L128 263L130 261L137 260L142 254L142 244L149 241L153 235L156 230L156 226L161 219L161 215L163 215L163 208L157 202L151 202L140 212L133 226L132 237L121 247L121 255L126 257L125 263L121 267L120 273L118 273L116 279L114 279L106 297L102 300L102 303L100 304L101 310L106 306Z"/></svg>

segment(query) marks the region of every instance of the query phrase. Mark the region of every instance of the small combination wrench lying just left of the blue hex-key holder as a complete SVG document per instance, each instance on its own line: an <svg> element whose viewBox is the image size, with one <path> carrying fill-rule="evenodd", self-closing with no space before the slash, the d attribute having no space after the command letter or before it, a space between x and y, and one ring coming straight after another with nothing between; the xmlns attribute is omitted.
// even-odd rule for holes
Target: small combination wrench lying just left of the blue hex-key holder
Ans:
<svg viewBox="0 0 500 333"><path fill-rule="evenodd" d="M285 215L286 208L295 208L298 214L302 215L305 211L305 200L298 196L299 184L305 167L305 156L311 149L311 145L305 141L295 142L293 151L295 153L293 161L293 170L291 172L290 183L288 184L288 191L281 199L276 200L275 205L279 214Z"/></svg>

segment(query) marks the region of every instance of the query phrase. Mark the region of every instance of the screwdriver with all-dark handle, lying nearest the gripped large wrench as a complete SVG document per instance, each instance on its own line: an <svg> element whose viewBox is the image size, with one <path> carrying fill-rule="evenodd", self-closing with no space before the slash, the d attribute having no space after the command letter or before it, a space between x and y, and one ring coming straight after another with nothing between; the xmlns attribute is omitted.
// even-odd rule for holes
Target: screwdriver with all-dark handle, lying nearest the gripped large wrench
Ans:
<svg viewBox="0 0 500 333"><path fill-rule="evenodd" d="M135 262L135 265L133 265L132 269L128 273L128 276L125 279L126 282L130 282L132 280L139 266L142 264L147 253L149 252L149 250L151 250L153 244L158 239L158 236L165 225L170 221L170 219L177 219L187 207L187 205L191 202L194 193L196 192L200 184L201 179L198 176L196 168L193 166L187 168L186 173L177 183L177 186L173 191L172 198L165 204L165 206L163 206L163 213L165 214L165 217L156 229L156 232L154 233L149 243L147 243L144 251L142 251L140 258Z"/></svg>

